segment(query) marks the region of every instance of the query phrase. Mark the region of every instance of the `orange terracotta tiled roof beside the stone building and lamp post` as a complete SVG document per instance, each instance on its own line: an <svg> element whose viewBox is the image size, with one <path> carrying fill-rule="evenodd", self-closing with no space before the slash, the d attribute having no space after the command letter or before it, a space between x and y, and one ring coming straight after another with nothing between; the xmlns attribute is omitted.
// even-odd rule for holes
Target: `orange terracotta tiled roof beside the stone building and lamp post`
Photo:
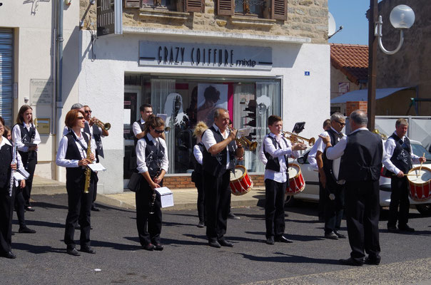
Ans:
<svg viewBox="0 0 431 285"><path fill-rule="evenodd" d="M368 80L368 46L330 43L330 62L355 84Z"/></svg>

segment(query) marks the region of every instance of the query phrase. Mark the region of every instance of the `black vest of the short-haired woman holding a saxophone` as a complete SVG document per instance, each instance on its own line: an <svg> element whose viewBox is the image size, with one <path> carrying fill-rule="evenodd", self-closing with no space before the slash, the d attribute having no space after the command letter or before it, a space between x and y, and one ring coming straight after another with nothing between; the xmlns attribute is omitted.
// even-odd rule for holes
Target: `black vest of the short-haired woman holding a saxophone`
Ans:
<svg viewBox="0 0 431 285"><path fill-rule="evenodd" d="M88 135L85 132L81 132L81 135L83 136L83 140L86 141L87 145L88 143ZM67 150L66 155L64 158L66 160L81 160L81 152L76 145L76 135L73 133L68 133L66 135L67 138ZM83 152L86 152L86 150L83 150ZM78 184L80 182L83 182L85 180L85 168L78 166L78 167L66 167L66 184L70 185L70 183Z"/></svg>

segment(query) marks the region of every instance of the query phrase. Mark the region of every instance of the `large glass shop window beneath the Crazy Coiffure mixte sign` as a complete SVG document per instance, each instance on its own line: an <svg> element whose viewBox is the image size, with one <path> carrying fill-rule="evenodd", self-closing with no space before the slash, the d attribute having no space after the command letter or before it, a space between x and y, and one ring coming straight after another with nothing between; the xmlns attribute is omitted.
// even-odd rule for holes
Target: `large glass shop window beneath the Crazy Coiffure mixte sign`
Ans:
<svg viewBox="0 0 431 285"><path fill-rule="evenodd" d="M129 79L125 82L132 81ZM264 165L258 159L258 151L263 137L268 133L268 117L281 113L280 79L208 80L158 78L146 75L133 82L139 84L141 98L131 100L130 94L125 92L125 102L151 103L153 113L166 115L166 126L171 128L166 133L168 174L188 173L193 170L193 145L196 144L196 138L192 135L193 128L199 120L205 121L208 127L211 127L213 110L217 107L228 109L233 128L249 128L248 140L258 142L255 151L245 150L244 160L238 164L244 165L248 172L264 171ZM132 109L138 110L139 105ZM139 112L136 113L135 120L139 118ZM132 120L133 114L130 125L133 124ZM124 125L124 131L125 139L130 139L130 127L127 124ZM128 152L131 151L126 149L126 153ZM128 176L126 167L125 165L125 179Z"/></svg>

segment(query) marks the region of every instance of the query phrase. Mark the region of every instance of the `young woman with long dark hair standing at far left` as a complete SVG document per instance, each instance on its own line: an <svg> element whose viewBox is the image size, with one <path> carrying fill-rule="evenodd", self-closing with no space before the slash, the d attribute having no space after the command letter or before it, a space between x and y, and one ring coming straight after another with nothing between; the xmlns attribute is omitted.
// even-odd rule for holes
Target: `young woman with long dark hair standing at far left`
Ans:
<svg viewBox="0 0 431 285"><path fill-rule="evenodd" d="M26 187L23 190L24 208L29 212L34 212L30 203L30 195L34 170L36 170L37 164L37 146L28 147L24 143L31 142L39 145L41 137L33 123L33 109L29 105L22 105L19 108L18 115L16 116L16 125L12 129L12 141L16 144L16 149L19 151L19 155L21 155L24 168L30 174L26 181Z"/></svg>

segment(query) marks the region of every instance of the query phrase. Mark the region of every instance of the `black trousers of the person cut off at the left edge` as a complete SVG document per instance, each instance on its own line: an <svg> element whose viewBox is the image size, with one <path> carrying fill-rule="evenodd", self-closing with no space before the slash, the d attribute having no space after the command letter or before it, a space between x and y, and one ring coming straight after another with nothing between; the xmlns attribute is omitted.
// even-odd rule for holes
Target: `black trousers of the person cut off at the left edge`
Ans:
<svg viewBox="0 0 431 285"><path fill-rule="evenodd" d="M14 187L15 188L15 187ZM11 251L12 244L12 207L15 199L15 191L9 197L9 184L0 187L0 254Z"/></svg>

